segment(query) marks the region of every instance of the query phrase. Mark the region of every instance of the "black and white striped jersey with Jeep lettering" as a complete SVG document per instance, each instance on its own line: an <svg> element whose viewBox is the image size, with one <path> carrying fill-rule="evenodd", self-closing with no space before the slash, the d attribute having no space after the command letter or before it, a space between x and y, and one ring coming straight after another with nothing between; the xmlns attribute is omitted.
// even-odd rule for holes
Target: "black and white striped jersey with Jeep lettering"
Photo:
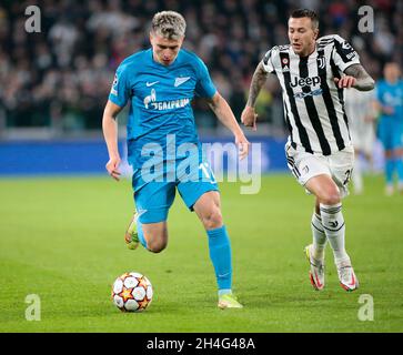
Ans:
<svg viewBox="0 0 403 355"><path fill-rule="evenodd" d="M293 148L330 155L352 144L343 90L337 89L334 78L359 63L359 54L337 34L318 39L309 57L295 54L290 44L275 45L265 53L263 68L276 74L283 90Z"/></svg>

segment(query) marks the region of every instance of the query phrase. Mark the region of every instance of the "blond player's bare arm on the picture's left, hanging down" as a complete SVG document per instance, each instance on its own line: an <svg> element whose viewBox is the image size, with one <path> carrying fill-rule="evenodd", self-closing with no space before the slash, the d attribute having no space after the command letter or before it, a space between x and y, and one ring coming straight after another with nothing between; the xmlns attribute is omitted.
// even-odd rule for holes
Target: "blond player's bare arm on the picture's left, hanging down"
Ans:
<svg viewBox="0 0 403 355"><path fill-rule="evenodd" d="M108 173L117 181L119 181L120 172L118 170L120 164L120 155L118 150L118 122L117 116L122 110L121 106L108 100L103 110L102 131L105 139L109 161L105 165Z"/></svg>

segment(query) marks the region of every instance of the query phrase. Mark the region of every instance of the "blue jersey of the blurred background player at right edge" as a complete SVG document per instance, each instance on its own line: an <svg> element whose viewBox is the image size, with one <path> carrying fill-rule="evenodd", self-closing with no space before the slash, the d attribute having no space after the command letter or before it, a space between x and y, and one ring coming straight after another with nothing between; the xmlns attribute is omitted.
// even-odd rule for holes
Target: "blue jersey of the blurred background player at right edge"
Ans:
<svg viewBox="0 0 403 355"><path fill-rule="evenodd" d="M399 80L391 84L385 80L381 80L376 85L376 99L383 106L391 106L393 114L382 113L381 119L392 119L396 124L403 124L403 81Z"/></svg>

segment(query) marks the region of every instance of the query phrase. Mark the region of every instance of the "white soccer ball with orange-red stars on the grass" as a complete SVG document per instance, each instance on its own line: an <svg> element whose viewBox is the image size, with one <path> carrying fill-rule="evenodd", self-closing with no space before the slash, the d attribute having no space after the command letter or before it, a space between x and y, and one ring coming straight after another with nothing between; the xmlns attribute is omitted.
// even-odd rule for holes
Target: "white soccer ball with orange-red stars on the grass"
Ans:
<svg viewBox="0 0 403 355"><path fill-rule="evenodd" d="M113 304L122 312L145 310L152 301L150 280L140 273L124 273L112 285Z"/></svg>

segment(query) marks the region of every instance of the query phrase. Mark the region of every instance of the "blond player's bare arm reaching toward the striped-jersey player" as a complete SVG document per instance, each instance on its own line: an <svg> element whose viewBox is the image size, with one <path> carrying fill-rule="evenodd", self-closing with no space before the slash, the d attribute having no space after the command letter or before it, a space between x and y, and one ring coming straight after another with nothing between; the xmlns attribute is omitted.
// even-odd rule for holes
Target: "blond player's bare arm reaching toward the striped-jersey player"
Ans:
<svg viewBox="0 0 403 355"><path fill-rule="evenodd" d="M214 112L220 122L224 124L235 136L235 143L238 144L240 151L240 158L245 158L249 153L250 143L238 124L236 119L226 100L221 97L219 92L215 92L211 100L209 100L209 106Z"/></svg>

